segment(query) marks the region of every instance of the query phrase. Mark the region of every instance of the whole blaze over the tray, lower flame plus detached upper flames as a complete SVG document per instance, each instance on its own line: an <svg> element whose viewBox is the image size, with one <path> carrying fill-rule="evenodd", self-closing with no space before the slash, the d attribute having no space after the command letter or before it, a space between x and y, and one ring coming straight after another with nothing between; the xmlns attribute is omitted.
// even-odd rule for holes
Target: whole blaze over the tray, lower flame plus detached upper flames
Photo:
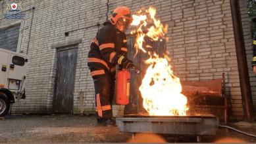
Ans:
<svg viewBox="0 0 256 144"><path fill-rule="evenodd" d="M155 8L140 10L132 18L134 21L131 25L137 26L137 29L131 32L136 33L134 45L136 54L138 50L147 52L146 48L152 48L150 45L145 45L145 37L149 37L151 41L168 40L165 37L168 25L164 26L156 18ZM187 98L181 94L180 79L173 74L168 60L166 56L159 58L157 54L154 54L145 61L149 67L139 89L143 98L143 107L149 115L186 115L188 110Z"/></svg>

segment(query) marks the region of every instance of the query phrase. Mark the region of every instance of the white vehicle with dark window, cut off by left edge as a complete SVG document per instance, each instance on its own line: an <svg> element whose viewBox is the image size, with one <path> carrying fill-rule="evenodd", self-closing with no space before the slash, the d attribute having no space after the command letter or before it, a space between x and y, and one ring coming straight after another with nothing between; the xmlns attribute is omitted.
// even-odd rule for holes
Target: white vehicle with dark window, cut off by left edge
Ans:
<svg viewBox="0 0 256 144"><path fill-rule="evenodd" d="M10 110L11 103L26 98L26 63L24 54L0 48L0 117Z"/></svg>

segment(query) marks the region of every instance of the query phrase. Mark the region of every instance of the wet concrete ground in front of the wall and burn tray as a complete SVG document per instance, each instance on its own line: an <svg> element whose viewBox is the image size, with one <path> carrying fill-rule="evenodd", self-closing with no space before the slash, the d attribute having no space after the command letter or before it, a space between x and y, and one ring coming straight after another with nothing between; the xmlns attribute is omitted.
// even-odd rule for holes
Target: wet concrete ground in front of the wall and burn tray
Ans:
<svg viewBox="0 0 256 144"><path fill-rule="evenodd" d="M256 125L238 122L232 126L256 134ZM117 127L96 126L94 116L80 115L9 115L0 119L0 143L55 142L127 142L132 134L118 132ZM202 142L256 142L256 138L219 129L215 136L202 137ZM133 141L195 142L195 137L137 134Z"/></svg>

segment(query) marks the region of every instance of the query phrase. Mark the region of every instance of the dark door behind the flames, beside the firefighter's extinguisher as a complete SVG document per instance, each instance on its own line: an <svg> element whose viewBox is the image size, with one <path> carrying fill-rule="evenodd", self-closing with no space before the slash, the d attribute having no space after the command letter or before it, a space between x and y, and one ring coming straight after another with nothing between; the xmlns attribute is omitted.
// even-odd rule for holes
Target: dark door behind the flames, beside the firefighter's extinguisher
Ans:
<svg viewBox="0 0 256 144"><path fill-rule="evenodd" d="M132 60L136 65L140 68L140 74L132 73L130 75L130 103L125 106L124 113L125 114L134 114L134 113L146 113L145 109L143 109L143 99L141 98L139 87L141 85L142 79L145 75L147 67L149 65L145 64L145 60L150 58L149 54L138 51L136 57L136 49L134 48L135 37L128 37L128 58ZM149 52L155 52L159 54L159 57L163 57L166 52L166 41L151 41L151 39L145 39L145 45L150 45L152 48L147 48Z"/></svg>

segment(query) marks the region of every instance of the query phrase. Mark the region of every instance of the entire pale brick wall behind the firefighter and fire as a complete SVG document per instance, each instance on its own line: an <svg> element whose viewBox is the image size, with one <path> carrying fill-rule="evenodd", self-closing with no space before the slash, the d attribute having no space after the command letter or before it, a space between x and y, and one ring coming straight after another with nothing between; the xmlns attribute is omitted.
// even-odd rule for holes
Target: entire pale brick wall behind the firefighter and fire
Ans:
<svg viewBox="0 0 256 144"><path fill-rule="evenodd" d="M224 72L231 118L242 119L229 0L116 0L109 1L109 12L106 4L107 0L62 3L51 0L22 1L23 9L36 7L36 10L32 27L32 11L26 12L20 48L26 53L29 42L27 98L13 105L13 113L51 113L56 71L55 47L78 39L82 42L78 44L74 113L94 111L93 81L86 62L91 39L98 28L94 25L98 22L102 24L106 14L117 6L139 10L153 5L157 8L158 18L169 24L166 46L172 57L174 73L181 79L203 81L220 78ZM1 1L0 8L3 7L5 3ZM4 13L5 10L0 9L0 18ZM11 22L1 19L0 24ZM66 31L72 31L68 37L64 36Z"/></svg>

